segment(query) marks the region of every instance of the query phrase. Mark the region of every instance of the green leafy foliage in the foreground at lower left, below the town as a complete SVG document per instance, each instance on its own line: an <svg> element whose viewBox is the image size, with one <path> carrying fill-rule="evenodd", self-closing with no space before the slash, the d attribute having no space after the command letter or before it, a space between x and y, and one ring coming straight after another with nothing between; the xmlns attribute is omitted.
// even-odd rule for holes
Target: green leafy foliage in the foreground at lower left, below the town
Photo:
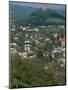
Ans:
<svg viewBox="0 0 68 90"><path fill-rule="evenodd" d="M57 84L54 73L45 70L44 66L36 59L21 60L16 54L11 64L11 88L46 86Z"/></svg>

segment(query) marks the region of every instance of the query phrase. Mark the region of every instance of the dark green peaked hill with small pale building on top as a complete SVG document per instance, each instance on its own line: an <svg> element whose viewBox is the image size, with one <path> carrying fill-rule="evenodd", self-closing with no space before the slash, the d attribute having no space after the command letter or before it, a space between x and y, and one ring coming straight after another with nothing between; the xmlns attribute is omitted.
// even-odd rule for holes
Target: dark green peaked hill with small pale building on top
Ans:
<svg viewBox="0 0 68 90"><path fill-rule="evenodd" d="M38 9L33 12L26 20L28 24L32 25L52 25L64 24L64 15L59 14L52 9Z"/></svg>

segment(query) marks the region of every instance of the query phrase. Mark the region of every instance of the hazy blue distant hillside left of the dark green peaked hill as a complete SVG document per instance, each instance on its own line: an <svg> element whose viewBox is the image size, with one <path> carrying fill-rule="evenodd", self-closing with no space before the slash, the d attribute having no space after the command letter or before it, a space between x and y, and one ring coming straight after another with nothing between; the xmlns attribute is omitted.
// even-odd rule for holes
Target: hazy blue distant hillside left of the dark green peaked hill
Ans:
<svg viewBox="0 0 68 90"><path fill-rule="evenodd" d="M33 7L10 5L11 20L13 21L23 20L36 10L37 8L33 8Z"/></svg>

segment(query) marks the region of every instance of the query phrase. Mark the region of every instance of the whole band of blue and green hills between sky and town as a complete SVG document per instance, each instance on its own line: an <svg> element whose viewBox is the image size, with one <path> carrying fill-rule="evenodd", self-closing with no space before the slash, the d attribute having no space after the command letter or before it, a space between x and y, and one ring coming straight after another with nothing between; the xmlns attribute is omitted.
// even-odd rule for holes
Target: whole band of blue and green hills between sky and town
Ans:
<svg viewBox="0 0 68 90"><path fill-rule="evenodd" d="M10 5L11 23L31 25L64 24L64 10Z"/></svg>

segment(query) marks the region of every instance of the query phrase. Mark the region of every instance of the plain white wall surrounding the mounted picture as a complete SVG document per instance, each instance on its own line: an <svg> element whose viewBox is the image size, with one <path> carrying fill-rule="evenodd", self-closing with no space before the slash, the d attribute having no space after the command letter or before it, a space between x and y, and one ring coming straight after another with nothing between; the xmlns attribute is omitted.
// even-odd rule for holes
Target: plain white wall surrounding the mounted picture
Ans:
<svg viewBox="0 0 68 90"><path fill-rule="evenodd" d="M8 90L9 77L9 0L0 0L0 90ZM12 1L12 0L11 0ZM30 2L45 2L67 4L68 0L15 0L15 1L30 1ZM68 14L68 12L67 12ZM68 21L68 18L67 18ZM68 34L68 31L67 31ZM67 36L68 39L68 36ZM68 45L67 45L68 47ZM68 63L68 61L67 61ZM67 67L68 70L68 67ZM68 74L67 74L68 75ZM67 90L67 86L43 87L43 88L29 88L25 90Z"/></svg>

